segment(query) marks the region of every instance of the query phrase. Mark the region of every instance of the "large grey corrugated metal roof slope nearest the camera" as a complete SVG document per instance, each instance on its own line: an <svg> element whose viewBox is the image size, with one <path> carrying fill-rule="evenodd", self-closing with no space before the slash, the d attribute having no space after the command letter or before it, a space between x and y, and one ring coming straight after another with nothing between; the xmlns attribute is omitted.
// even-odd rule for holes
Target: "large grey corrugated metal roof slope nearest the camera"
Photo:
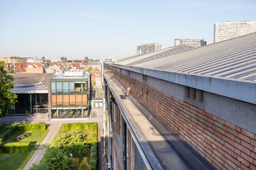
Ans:
<svg viewBox="0 0 256 170"><path fill-rule="evenodd" d="M138 62L133 66L256 81L256 33L167 55L156 60Z"/></svg>

